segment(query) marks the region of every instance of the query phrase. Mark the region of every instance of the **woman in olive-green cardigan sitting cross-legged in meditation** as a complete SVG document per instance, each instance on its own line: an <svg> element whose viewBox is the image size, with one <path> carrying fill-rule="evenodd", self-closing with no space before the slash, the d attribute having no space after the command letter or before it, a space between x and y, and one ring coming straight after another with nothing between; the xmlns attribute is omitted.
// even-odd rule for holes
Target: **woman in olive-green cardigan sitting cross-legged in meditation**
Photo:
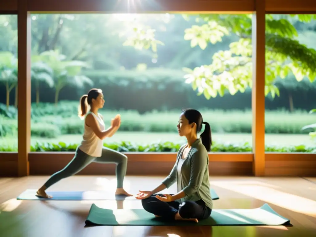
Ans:
<svg viewBox="0 0 316 237"><path fill-rule="evenodd" d="M197 138L202 124L205 124L204 132ZM179 135L185 136L188 143L179 149L169 176L154 190L139 191L136 198L141 199L143 208L156 217L198 222L208 218L213 208L208 167L211 129L208 123L203 122L201 113L194 109L181 113L177 127ZM175 182L178 193L154 195Z"/></svg>

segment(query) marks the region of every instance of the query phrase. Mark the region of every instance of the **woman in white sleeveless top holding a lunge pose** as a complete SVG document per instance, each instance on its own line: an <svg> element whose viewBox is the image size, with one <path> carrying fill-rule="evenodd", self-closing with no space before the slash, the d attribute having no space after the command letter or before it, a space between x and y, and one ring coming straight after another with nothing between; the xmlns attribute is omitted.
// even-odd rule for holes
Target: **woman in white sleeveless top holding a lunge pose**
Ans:
<svg viewBox="0 0 316 237"><path fill-rule="evenodd" d="M90 111L87 113L88 105ZM113 134L119 129L121 124L120 115L117 115L111 121L111 126L105 130L103 116L98 113L100 108L103 108L104 99L102 90L91 89L88 95L83 95L80 99L79 117L85 117L84 134L81 144L77 147L74 158L64 169L54 173L46 183L36 192L36 196L43 198L52 198L46 194L46 189L57 183L59 180L70 177L83 168L87 167L91 162L98 163L116 163L116 177L117 189L116 195L133 196L123 189L123 181L127 168L127 156L103 147L103 139L112 137Z"/></svg>

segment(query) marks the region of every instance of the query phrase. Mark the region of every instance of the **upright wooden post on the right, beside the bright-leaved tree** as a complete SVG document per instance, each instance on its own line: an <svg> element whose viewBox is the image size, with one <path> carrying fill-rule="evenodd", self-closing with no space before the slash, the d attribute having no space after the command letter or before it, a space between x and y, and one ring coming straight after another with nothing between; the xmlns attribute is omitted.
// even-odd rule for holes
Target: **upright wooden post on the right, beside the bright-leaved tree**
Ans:
<svg viewBox="0 0 316 237"><path fill-rule="evenodd" d="M265 0L255 0L252 17L252 151L253 174L264 176Z"/></svg>

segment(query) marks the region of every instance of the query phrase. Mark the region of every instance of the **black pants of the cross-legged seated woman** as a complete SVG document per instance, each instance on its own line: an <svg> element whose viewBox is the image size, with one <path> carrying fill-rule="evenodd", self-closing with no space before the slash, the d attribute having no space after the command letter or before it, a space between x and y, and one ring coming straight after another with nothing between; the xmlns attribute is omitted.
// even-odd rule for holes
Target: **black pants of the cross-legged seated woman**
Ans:
<svg viewBox="0 0 316 237"><path fill-rule="evenodd" d="M158 194L162 196L161 194ZM207 219L212 210L205 206L203 200L198 200L196 202L185 201L182 204L179 202L163 202L160 201L155 195L142 199L143 208L157 216L161 216L167 219L174 220L175 214L179 212L182 218L197 218L198 220Z"/></svg>

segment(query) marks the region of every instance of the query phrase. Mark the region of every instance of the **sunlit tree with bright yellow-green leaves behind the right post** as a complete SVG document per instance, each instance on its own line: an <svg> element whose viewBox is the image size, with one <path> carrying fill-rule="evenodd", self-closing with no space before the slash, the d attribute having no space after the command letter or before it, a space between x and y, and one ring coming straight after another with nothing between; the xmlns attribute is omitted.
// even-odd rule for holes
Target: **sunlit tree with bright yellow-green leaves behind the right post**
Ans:
<svg viewBox="0 0 316 237"><path fill-rule="evenodd" d="M184 39L191 41L191 47L199 46L204 50L209 43L214 45L230 34L236 34L239 40L231 43L229 50L216 52L212 64L184 68L187 73L185 82L191 83L192 88L207 99L223 96L225 91L234 95L252 87L252 15L200 14L194 17L197 24L187 28L184 34ZM284 79L290 72L297 81L303 80L304 76L310 82L314 81L316 51L294 39L298 33L291 24L294 20L309 22L312 19L316 19L316 15L290 15L289 19L266 15L265 95L270 93L273 98L279 95L275 80L277 76ZM143 38L139 37L139 40ZM154 35L151 38L155 39Z"/></svg>

